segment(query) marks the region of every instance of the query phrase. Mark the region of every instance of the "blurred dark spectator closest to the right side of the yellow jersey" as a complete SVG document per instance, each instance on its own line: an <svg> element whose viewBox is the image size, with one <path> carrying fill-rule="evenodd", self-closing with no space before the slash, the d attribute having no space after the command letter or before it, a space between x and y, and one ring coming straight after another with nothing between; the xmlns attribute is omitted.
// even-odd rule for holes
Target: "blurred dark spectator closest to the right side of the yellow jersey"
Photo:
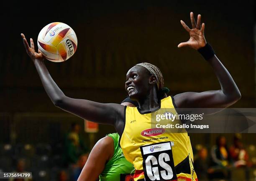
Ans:
<svg viewBox="0 0 256 181"><path fill-rule="evenodd" d="M200 181L208 181L207 170L209 168L209 159L207 156L207 149L205 147L202 147L198 151L198 157L194 162L197 178L199 178Z"/></svg>

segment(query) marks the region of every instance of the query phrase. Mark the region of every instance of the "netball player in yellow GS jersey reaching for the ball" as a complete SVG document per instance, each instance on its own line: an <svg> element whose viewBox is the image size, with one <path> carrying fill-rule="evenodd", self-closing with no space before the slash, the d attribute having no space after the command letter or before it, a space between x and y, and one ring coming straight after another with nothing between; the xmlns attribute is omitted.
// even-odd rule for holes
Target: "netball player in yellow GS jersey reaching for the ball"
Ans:
<svg viewBox="0 0 256 181"><path fill-rule="evenodd" d="M189 46L198 50L213 68L221 89L200 93L186 92L161 99L166 89L160 70L150 63L140 63L128 70L125 82L128 96L139 103L137 108L66 96L51 78L43 55L34 50L33 40L30 40L29 46L22 34L26 51L33 60L46 93L54 105L83 119L115 126L120 135L124 156L136 169L135 181L197 180L187 133L163 131L159 135L151 135L151 139L142 134L151 128L151 113L160 108L226 108L241 98L230 73L205 40L205 24L202 23L201 27L201 15L197 16L197 23L193 13L190 13L190 18L192 29L181 21L190 38L178 47ZM144 141L145 139L148 141Z"/></svg>

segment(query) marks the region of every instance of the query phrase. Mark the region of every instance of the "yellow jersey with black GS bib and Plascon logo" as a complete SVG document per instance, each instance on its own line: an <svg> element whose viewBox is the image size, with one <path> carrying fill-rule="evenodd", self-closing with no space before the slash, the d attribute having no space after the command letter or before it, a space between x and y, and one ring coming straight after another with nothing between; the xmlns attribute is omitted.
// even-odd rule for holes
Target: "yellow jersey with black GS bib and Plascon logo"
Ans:
<svg viewBox="0 0 256 181"><path fill-rule="evenodd" d="M197 181L193 153L187 131L172 133L152 124L151 115L173 108L173 97L161 100L161 109L141 113L137 107L125 107L125 127L120 146L135 168L134 181ZM153 127L152 127L153 125Z"/></svg>

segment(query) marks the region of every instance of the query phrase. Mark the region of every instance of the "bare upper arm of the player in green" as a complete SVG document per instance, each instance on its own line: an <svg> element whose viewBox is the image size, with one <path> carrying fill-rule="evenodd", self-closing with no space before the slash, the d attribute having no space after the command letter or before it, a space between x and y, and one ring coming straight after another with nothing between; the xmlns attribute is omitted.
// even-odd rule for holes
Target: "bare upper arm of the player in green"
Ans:
<svg viewBox="0 0 256 181"><path fill-rule="evenodd" d="M95 181L105 168L105 164L113 157L114 141L109 136L100 139L89 155L87 162L77 181Z"/></svg>

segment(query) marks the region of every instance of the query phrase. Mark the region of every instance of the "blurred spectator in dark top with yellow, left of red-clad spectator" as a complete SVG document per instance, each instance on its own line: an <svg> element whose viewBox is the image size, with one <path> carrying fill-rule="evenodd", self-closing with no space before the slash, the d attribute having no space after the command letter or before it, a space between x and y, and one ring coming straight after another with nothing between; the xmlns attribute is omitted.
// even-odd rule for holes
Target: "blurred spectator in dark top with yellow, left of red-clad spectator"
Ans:
<svg viewBox="0 0 256 181"><path fill-rule="evenodd" d="M226 138L224 136L218 136L216 145L211 149L211 164L208 169L209 178L229 179L229 159Z"/></svg>

